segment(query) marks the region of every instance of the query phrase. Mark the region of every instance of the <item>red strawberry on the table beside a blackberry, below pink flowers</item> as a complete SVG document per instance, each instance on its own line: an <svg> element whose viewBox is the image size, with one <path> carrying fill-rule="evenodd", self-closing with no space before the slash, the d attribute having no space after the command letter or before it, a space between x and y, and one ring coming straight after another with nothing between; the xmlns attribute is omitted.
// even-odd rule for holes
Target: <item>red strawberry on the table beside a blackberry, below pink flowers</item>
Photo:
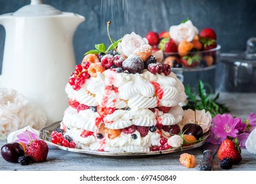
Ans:
<svg viewBox="0 0 256 184"><path fill-rule="evenodd" d="M234 142L230 139L225 139L218 149L218 159L231 158L233 164L238 164L242 160L239 144L238 139L235 139Z"/></svg>

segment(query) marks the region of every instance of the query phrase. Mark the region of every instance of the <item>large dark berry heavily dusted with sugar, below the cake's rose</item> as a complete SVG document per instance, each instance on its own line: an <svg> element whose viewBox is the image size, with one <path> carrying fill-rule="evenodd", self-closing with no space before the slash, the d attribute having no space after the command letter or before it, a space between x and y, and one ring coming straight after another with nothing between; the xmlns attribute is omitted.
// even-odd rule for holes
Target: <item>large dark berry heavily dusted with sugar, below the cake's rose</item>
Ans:
<svg viewBox="0 0 256 184"><path fill-rule="evenodd" d="M129 57L122 62L122 69L132 74L141 73L143 68L143 60L136 55L129 55Z"/></svg>

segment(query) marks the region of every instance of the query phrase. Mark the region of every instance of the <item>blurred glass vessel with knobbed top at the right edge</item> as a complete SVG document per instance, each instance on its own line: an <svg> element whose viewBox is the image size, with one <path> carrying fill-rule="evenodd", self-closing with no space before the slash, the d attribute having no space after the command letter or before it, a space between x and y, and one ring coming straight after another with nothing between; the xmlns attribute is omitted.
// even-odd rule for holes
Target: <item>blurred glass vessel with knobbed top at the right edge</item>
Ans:
<svg viewBox="0 0 256 184"><path fill-rule="evenodd" d="M256 92L256 37L247 41L243 53L222 53L224 64L222 90L228 92Z"/></svg>

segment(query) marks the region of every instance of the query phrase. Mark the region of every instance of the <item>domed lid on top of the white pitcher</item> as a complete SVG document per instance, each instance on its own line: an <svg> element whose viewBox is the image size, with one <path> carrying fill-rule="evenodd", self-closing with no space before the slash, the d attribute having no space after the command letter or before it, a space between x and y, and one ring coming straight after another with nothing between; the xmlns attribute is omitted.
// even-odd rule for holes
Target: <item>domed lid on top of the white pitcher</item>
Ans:
<svg viewBox="0 0 256 184"><path fill-rule="evenodd" d="M51 5L43 4L43 0L31 0L30 5L26 5L13 13L13 16L53 16L62 14Z"/></svg>

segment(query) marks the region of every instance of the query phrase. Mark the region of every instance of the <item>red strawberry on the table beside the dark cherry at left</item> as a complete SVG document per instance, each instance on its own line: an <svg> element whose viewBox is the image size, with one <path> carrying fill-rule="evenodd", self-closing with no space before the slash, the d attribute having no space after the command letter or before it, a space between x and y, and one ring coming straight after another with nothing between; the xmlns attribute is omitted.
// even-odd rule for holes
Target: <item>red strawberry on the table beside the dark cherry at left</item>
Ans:
<svg viewBox="0 0 256 184"><path fill-rule="evenodd" d="M33 162L45 162L48 154L48 146L43 140L32 141L26 149L26 155L32 158Z"/></svg>

